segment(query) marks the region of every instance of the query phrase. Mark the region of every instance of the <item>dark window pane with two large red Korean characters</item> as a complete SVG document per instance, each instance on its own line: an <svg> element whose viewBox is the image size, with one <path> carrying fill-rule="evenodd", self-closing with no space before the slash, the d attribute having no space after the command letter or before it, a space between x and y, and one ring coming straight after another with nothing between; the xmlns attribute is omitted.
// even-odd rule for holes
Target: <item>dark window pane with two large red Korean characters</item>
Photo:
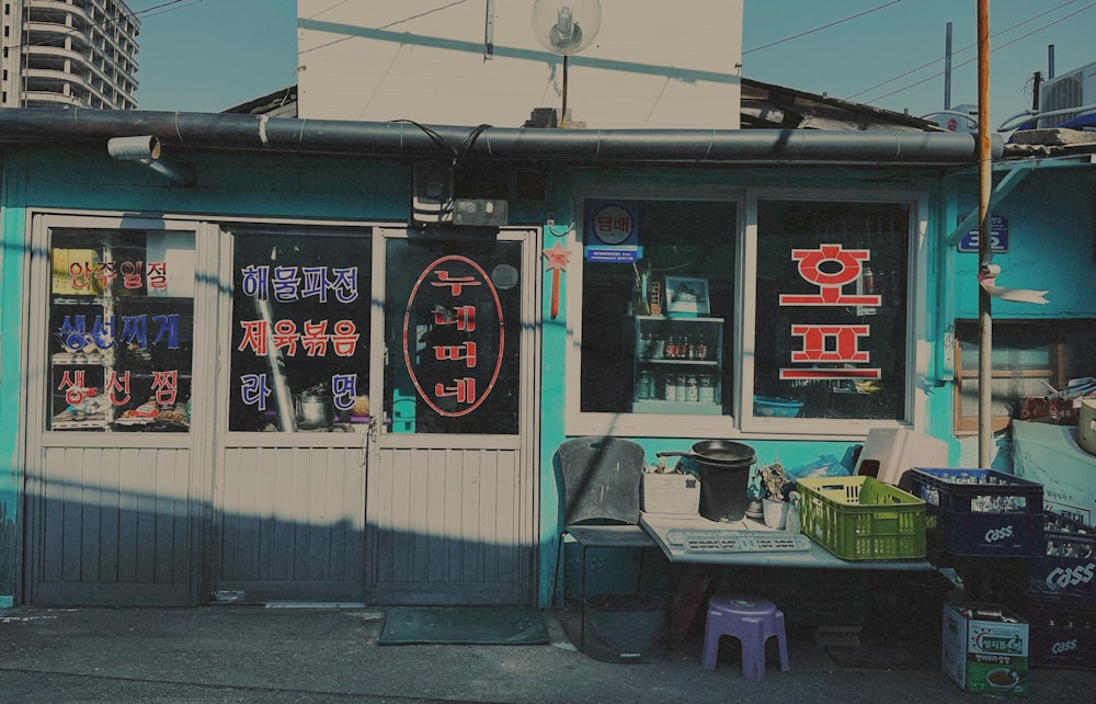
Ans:
<svg viewBox="0 0 1096 704"><path fill-rule="evenodd" d="M755 416L904 419L907 203L761 201Z"/></svg>

